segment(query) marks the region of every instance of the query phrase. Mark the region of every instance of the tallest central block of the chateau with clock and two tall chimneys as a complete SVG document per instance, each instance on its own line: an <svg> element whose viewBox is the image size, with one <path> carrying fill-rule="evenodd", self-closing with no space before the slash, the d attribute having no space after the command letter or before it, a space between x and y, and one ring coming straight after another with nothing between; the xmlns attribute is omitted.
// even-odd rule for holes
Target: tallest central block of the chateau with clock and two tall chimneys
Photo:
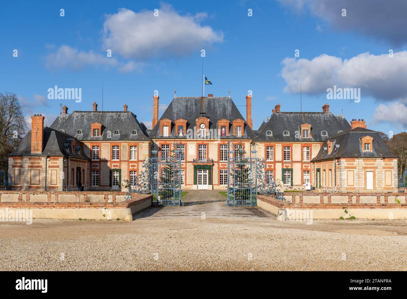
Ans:
<svg viewBox="0 0 407 299"><path fill-rule="evenodd" d="M246 97L247 118L228 97L174 97L158 120L158 97L153 102L151 140L159 145L161 157L181 143L183 188L217 189L227 184L228 147L250 151L256 137L252 130L252 98Z"/></svg>

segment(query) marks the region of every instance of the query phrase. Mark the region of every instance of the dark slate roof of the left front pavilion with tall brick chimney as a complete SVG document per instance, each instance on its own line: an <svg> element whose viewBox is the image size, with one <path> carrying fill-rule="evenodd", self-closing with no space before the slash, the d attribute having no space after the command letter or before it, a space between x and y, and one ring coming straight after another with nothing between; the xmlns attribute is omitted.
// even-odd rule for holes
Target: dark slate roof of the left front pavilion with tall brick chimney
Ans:
<svg viewBox="0 0 407 299"><path fill-rule="evenodd" d="M42 153L31 153L31 131L28 131L20 143L20 146L13 151L9 156L67 156L78 159L89 160L89 158L83 153L82 148L79 146L79 141L76 139L76 144L78 145L79 152L72 152L72 146L67 146L65 144L71 144L75 137L51 129L49 127L44 127L44 138L43 146L44 150Z"/></svg>

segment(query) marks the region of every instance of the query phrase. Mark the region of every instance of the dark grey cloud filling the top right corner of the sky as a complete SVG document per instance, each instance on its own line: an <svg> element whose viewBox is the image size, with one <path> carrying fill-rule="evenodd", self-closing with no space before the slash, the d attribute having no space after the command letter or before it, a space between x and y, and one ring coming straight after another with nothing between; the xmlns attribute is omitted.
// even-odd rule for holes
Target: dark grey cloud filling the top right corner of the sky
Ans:
<svg viewBox="0 0 407 299"><path fill-rule="evenodd" d="M334 29L351 31L391 41L407 43L407 5L400 0L278 0L296 13L308 8ZM346 17L342 16L346 9Z"/></svg>

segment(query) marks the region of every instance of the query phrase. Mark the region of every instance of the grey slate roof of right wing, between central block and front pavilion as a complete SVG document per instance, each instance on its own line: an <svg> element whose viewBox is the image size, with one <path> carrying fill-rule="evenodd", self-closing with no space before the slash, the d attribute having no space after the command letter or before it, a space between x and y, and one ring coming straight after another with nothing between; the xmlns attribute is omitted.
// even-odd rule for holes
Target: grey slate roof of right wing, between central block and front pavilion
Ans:
<svg viewBox="0 0 407 299"><path fill-rule="evenodd" d="M300 131L301 124L311 124L311 138L295 138L295 131ZM339 131L348 131L350 124L341 115L332 112L275 112L271 115L256 141L270 142L322 142L326 137L337 134ZM267 136L267 131L272 135ZM283 136L284 131L289 131L289 136ZM327 135L322 136L322 131ZM297 136L298 137L298 136Z"/></svg>

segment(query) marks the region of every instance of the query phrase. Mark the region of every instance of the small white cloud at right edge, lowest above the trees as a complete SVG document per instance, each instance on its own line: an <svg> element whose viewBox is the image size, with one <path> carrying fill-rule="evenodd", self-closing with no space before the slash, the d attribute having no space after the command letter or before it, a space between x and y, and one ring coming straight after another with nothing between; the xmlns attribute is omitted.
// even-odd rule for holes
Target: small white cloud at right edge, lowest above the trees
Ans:
<svg viewBox="0 0 407 299"><path fill-rule="evenodd" d="M373 115L373 122L387 122L398 127L407 127L407 107L402 103L394 102L389 105L380 104Z"/></svg>

